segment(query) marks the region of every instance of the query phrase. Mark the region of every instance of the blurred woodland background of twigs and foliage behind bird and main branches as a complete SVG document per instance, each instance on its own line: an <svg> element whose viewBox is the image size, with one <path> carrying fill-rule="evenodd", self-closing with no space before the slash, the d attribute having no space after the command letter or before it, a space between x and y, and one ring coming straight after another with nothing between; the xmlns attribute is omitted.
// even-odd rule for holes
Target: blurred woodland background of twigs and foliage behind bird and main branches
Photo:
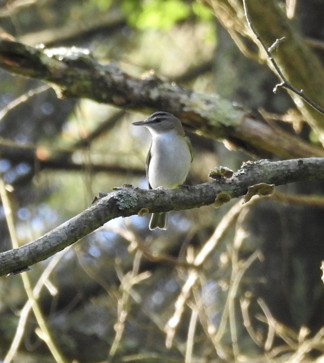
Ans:
<svg viewBox="0 0 324 363"><path fill-rule="evenodd" d="M323 64L324 1L269 1ZM272 92L278 78L238 39L230 7L242 16L241 1L12 0L0 2L0 26L28 45L86 48L132 76L155 72L266 112L274 129L322 147L287 92ZM130 123L150 110L58 99L1 69L0 81L0 172L19 244L77 215L99 191L146 188L150 135ZM186 131L187 184L262 157ZM294 183L244 205L170 212L167 231L149 231L149 216L112 220L32 266L41 318L21 276L2 277L0 361L323 362L323 188ZM0 250L11 248L0 206ZM193 269L197 256L203 267Z"/></svg>

